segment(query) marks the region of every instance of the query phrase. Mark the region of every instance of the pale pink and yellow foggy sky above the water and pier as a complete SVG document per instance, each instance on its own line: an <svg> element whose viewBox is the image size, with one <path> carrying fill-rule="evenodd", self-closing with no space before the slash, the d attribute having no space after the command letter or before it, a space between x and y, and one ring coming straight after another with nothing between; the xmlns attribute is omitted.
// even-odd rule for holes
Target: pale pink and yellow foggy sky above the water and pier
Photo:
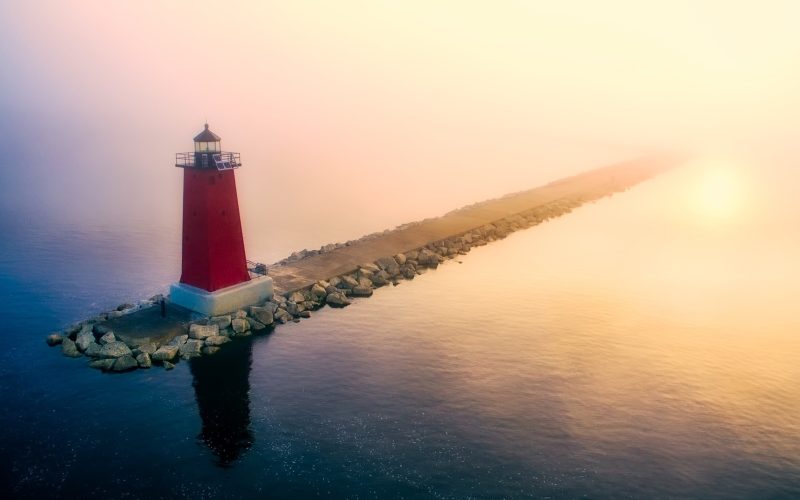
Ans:
<svg viewBox="0 0 800 500"><path fill-rule="evenodd" d="M653 151L789 171L797 19L763 0L5 0L0 210L177 228L174 153L205 121L242 154L267 260Z"/></svg>

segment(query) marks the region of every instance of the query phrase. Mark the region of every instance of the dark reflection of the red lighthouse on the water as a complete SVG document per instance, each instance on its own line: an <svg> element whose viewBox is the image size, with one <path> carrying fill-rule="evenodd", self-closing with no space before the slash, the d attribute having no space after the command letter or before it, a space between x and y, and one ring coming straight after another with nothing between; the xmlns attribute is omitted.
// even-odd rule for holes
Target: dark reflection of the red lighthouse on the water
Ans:
<svg viewBox="0 0 800 500"><path fill-rule="evenodd" d="M253 445L250 428L250 365L253 343L248 339L225 345L214 356L189 362L197 409L202 420L198 440L230 467Z"/></svg>

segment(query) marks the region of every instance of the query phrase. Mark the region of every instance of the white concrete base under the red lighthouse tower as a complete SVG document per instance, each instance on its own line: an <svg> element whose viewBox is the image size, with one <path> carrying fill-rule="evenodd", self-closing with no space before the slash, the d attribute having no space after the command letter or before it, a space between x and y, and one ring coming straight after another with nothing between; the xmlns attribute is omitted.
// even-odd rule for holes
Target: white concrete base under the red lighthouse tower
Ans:
<svg viewBox="0 0 800 500"><path fill-rule="evenodd" d="M208 292L184 283L173 283L169 289L169 300L186 309L218 316L260 304L272 298L272 278L262 276L250 281Z"/></svg>

